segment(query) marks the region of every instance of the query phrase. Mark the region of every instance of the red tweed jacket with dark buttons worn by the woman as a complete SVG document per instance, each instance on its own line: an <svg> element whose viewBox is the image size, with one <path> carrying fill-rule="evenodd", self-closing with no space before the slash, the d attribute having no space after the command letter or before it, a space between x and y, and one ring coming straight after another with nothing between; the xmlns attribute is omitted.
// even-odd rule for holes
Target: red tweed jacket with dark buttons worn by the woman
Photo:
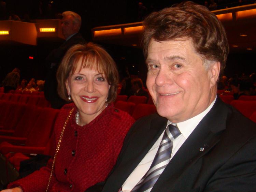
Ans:
<svg viewBox="0 0 256 192"><path fill-rule="evenodd" d="M63 124L74 107L67 104L60 110L53 133L55 150ZM69 119L56 157L54 174L48 191L85 191L104 181L113 168L124 137L134 119L110 104L89 124L75 123L76 109ZM53 150L53 151L54 151ZM22 187L24 192L40 192L47 188L53 158L47 166L14 181L8 188Z"/></svg>

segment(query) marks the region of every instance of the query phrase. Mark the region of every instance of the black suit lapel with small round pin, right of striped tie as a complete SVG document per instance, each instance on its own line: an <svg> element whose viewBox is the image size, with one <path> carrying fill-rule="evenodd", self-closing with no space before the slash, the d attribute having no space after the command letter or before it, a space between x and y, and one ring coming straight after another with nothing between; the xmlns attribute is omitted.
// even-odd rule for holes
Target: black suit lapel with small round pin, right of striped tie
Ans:
<svg viewBox="0 0 256 192"><path fill-rule="evenodd" d="M226 129L226 110L222 101L217 99L210 112L205 115L176 152L154 185L152 192L158 191L156 189L161 189L160 186L165 186L165 183L170 191L179 186L177 183L186 174L186 170L191 168L194 163L219 142L220 133Z"/></svg>

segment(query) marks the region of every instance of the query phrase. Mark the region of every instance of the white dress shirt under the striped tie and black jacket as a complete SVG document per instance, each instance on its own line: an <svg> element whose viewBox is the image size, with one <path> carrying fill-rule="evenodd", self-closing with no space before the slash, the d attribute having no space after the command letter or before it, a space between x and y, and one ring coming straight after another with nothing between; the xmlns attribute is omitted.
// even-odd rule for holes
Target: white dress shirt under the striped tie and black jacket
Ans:
<svg viewBox="0 0 256 192"><path fill-rule="evenodd" d="M202 118L210 111L215 101L216 101L216 98L209 105L207 109L205 109L202 113L198 114L197 116L191 119L188 119L186 121L177 123L177 127L179 128L181 135L179 135L173 141L171 159L173 158L175 153L180 149L182 144L186 141L188 136L194 131L194 129L197 127L197 125L202 120ZM168 120L166 127L171 123L172 122ZM159 138L157 139L155 144L152 146L152 148L147 152L146 156L141 160L141 162L133 170L130 176L126 179L126 181L122 186L123 192L130 192L136 186L136 184L141 180L141 178L145 175L145 173L148 171L148 169L150 168L156 156L156 153L161 143L164 132L165 130L163 130L162 134L159 136Z"/></svg>

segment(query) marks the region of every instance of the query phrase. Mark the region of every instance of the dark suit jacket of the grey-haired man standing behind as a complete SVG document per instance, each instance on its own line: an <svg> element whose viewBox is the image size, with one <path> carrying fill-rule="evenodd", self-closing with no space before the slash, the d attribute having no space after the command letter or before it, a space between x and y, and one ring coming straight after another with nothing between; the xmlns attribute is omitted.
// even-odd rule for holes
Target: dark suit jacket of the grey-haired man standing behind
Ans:
<svg viewBox="0 0 256 192"><path fill-rule="evenodd" d="M66 54L67 50L76 44L84 44L85 40L80 33L76 33L68 41L65 41L58 47L51 51L51 53L46 58L46 67L48 68L48 73L45 78L44 85L44 95L45 98L51 103L53 108L61 108L67 102L62 100L57 91L57 79L56 72L59 67L59 64ZM51 68L51 63L55 63Z"/></svg>

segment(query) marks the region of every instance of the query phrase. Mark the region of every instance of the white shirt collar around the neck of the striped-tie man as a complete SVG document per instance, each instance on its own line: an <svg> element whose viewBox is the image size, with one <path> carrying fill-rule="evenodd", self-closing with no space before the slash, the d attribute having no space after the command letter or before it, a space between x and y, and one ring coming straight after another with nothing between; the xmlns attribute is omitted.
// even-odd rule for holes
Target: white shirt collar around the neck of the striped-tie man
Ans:
<svg viewBox="0 0 256 192"><path fill-rule="evenodd" d="M194 131L194 129L197 127L199 122L203 119L203 117L211 110L213 104L216 101L216 98L213 100L213 102L205 109L202 113L198 114L195 117L192 117L186 121L177 123L177 127L179 128L181 134L187 139L188 136ZM167 126L171 124L172 122L168 120Z"/></svg>

